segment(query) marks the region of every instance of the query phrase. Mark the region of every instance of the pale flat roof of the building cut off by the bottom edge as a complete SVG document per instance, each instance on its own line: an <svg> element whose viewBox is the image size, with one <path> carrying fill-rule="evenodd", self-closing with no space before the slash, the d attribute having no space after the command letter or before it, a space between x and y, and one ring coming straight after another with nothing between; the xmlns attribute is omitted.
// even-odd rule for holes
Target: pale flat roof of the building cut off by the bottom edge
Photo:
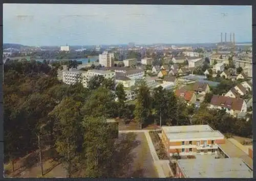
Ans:
<svg viewBox="0 0 256 181"><path fill-rule="evenodd" d="M181 159L176 164L178 178L252 178L252 170L240 158L199 157Z"/></svg>

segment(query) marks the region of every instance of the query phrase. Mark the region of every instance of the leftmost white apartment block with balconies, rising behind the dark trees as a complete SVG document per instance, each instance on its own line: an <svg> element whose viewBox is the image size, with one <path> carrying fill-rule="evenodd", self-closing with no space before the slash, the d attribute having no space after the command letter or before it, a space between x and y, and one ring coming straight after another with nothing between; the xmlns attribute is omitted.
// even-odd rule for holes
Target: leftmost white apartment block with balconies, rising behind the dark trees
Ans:
<svg viewBox="0 0 256 181"><path fill-rule="evenodd" d="M65 84L68 84L68 85L72 85L72 84L75 84L78 79L82 80L82 73L83 71L79 71L79 70L72 70L70 69L69 71L68 70L65 70L65 71L62 71L62 81L63 83Z"/></svg>

